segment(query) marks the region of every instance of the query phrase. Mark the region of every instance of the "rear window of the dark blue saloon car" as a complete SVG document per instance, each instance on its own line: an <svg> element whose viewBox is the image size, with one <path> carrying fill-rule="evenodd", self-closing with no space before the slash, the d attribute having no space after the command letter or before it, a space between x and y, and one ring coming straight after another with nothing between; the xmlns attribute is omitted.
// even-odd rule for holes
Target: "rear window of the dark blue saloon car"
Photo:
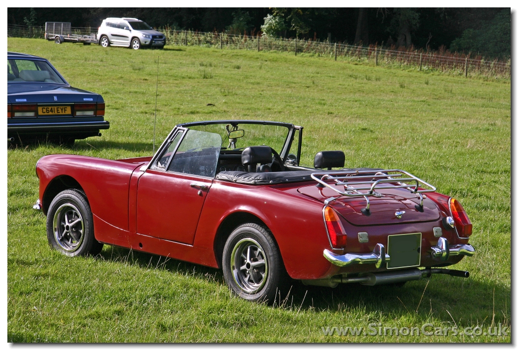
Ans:
<svg viewBox="0 0 518 350"><path fill-rule="evenodd" d="M66 84L47 62L33 60L7 60L7 82Z"/></svg>

